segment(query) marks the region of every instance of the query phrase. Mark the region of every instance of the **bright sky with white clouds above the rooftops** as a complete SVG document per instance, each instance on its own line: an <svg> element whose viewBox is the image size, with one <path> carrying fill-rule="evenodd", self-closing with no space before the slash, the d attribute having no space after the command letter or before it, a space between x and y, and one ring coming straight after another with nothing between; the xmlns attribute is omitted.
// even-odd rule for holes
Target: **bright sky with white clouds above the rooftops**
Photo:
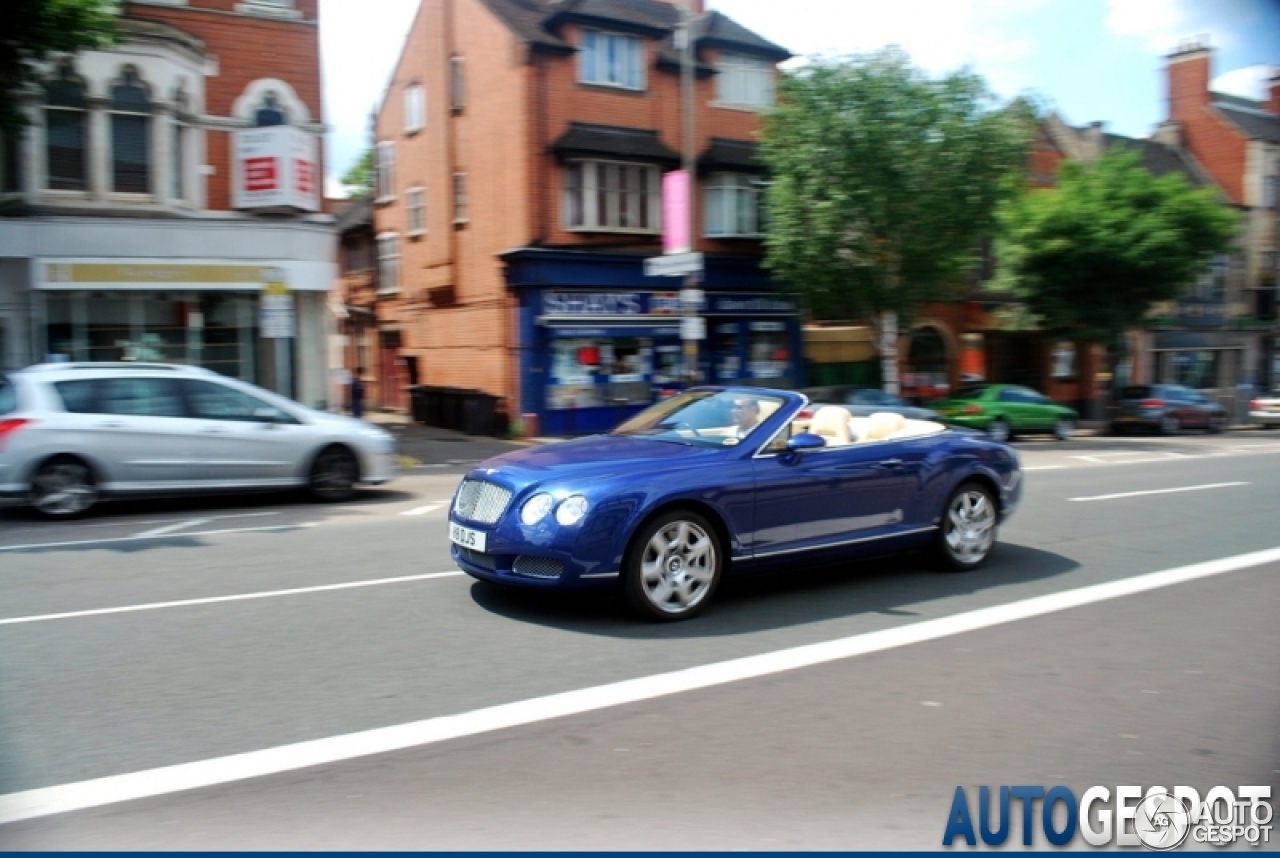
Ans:
<svg viewBox="0 0 1280 858"><path fill-rule="evenodd" d="M369 117L390 79L419 0L320 0L330 195L369 147ZM929 74L961 67L996 95L1034 93L1075 125L1146 137L1164 119L1164 56L1213 49L1212 87L1262 99L1280 70L1280 0L707 0L796 55L899 45Z"/></svg>

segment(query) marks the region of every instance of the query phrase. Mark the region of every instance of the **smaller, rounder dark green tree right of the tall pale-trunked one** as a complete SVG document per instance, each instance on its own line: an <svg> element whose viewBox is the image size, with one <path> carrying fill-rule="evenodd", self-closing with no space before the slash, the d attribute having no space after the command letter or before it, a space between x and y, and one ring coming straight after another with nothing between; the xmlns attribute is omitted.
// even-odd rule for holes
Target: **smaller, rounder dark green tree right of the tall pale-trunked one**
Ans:
<svg viewBox="0 0 1280 858"><path fill-rule="evenodd" d="M1089 164L1065 161L1055 187L1006 202L1000 224L998 279L1042 328L1102 343L1114 366L1120 334L1226 251L1239 219L1212 191L1180 173L1157 178L1114 147Z"/></svg>

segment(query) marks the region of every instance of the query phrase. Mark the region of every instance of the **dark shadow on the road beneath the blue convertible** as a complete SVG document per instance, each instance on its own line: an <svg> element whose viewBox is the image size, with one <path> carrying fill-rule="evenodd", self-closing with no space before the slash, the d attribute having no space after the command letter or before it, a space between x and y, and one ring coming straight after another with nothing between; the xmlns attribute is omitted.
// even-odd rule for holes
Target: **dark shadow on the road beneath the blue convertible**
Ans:
<svg viewBox="0 0 1280 858"><path fill-rule="evenodd" d="M471 585L475 603L520 622L609 638L663 639L753 634L858 615L918 616L906 606L1042 580L1079 569L1070 557L1000 543L970 572L942 572L925 553L796 566L785 572L726 579L701 616L655 624L631 615L616 590L541 593L486 581Z"/></svg>

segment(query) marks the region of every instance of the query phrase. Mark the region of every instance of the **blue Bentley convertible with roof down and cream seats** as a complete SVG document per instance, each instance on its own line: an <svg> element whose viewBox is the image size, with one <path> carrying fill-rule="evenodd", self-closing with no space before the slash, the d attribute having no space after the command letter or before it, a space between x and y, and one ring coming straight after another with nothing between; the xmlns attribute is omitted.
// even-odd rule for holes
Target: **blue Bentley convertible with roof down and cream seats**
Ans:
<svg viewBox="0 0 1280 858"><path fill-rule="evenodd" d="M617 587L644 616L707 607L726 574L932 547L991 553L1018 506L1011 447L764 388L694 388L607 435L492 458L449 508L457 565L527 588Z"/></svg>

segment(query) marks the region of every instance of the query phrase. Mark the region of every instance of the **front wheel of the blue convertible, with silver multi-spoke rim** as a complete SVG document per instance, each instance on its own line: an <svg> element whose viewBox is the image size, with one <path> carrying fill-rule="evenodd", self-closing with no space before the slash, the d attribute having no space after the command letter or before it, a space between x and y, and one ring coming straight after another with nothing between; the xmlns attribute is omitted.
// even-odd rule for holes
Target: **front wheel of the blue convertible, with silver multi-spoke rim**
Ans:
<svg viewBox="0 0 1280 858"><path fill-rule="evenodd" d="M696 512L672 510L632 537L622 587L636 613L671 622L701 613L723 576L724 551L716 528Z"/></svg>

